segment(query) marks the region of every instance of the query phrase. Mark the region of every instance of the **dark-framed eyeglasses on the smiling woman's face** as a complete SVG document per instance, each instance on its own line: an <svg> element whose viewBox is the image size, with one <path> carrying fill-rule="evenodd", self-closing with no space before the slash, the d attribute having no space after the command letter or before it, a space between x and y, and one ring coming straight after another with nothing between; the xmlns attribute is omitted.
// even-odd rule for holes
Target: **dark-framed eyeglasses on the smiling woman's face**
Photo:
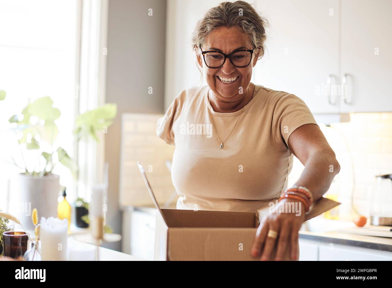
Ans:
<svg viewBox="0 0 392 288"><path fill-rule="evenodd" d="M222 67L222 65L225 64L226 58L229 58L230 62L237 68L247 67L252 61L252 54L254 51L254 49L239 49L234 50L230 54L225 54L215 50L203 51L201 46L200 50L203 55L204 63L208 68Z"/></svg>

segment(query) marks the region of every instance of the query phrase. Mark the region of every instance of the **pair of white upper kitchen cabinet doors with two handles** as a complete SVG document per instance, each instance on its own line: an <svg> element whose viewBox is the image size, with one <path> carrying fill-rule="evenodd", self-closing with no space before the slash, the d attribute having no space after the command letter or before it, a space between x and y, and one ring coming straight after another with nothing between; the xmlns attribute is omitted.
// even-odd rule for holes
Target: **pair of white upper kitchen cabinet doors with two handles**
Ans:
<svg viewBox="0 0 392 288"><path fill-rule="evenodd" d="M258 0L269 21L255 83L316 115L392 112L392 1Z"/></svg>

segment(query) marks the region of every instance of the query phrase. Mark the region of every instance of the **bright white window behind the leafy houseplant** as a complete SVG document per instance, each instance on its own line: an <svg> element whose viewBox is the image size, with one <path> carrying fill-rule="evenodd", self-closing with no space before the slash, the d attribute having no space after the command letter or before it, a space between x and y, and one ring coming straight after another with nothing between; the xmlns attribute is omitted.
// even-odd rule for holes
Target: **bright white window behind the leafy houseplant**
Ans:
<svg viewBox="0 0 392 288"><path fill-rule="evenodd" d="M78 23L77 0L0 0L0 90L7 96L0 102L0 187L20 172L12 164L20 151L8 119L22 111L28 99L50 96L61 116L56 120L56 142L74 157L72 131L78 109ZM55 145L56 146L56 145ZM26 162L36 157L25 154ZM33 159L34 161L34 159ZM69 170L58 165L54 173L67 187L71 199L76 195ZM0 208L6 189L0 189Z"/></svg>

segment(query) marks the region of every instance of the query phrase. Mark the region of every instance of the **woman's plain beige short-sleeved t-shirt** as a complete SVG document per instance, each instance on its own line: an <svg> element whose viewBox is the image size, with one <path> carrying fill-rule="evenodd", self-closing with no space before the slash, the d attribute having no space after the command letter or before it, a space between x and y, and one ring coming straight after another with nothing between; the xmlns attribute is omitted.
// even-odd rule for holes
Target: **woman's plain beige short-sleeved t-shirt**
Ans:
<svg viewBox="0 0 392 288"><path fill-rule="evenodd" d="M290 134L317 123L293 94L255 85L243 109L218 113L208 91L184 90L158 120L157 135L176 146L171 171L177 209L255 212L287 187L294 157L286 145Z"/></svg>

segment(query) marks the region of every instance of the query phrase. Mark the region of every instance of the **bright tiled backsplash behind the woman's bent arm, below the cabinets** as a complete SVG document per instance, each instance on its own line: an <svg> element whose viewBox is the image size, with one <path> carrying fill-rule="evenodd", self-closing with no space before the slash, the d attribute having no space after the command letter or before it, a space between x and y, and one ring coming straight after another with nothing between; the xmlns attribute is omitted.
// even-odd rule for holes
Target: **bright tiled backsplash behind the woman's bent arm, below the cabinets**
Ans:
<svg viewBox="0 0 392 288"><path fill-rule="evenodd" d="M352 113L350 122L319 126L341 166L324 196L337 196L342 203L339 218L352 220L351 195L354 192L355 208L369 216L372 199L379 191L375 175L392 173L392 113ZM294 185L303 168L294 157L289 187ZM390 187L385 201L392 202L392 182ZM390 205L392 207L392 203Z"/></svg>

